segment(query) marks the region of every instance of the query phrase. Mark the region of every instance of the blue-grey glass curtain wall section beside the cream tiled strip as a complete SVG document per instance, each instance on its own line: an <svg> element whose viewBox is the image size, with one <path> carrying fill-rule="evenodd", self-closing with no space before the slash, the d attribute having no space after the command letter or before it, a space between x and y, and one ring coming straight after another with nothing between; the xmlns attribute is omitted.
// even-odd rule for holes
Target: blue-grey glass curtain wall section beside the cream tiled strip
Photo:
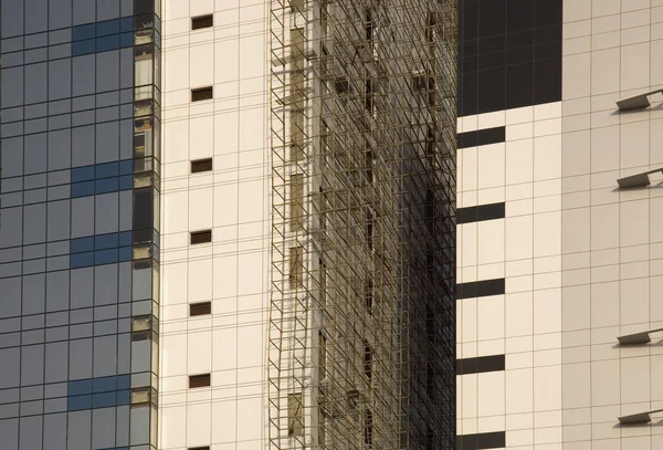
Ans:
<svg viewBox="0 0 663 450"><path fill-rule="evenodd" d="M159 15L2 1L3 448L156 448Z"/></svg>

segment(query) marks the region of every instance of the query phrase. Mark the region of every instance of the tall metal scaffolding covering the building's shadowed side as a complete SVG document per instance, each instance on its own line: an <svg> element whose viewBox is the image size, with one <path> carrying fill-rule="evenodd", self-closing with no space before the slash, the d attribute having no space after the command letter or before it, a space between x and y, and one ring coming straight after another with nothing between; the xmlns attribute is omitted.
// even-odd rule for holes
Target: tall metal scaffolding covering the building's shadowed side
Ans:
<svg viewBox="0 0 663 450"><path fill-rule="evenodd" d="M272 0L271 448L453 448L455 8Z"/></svg>

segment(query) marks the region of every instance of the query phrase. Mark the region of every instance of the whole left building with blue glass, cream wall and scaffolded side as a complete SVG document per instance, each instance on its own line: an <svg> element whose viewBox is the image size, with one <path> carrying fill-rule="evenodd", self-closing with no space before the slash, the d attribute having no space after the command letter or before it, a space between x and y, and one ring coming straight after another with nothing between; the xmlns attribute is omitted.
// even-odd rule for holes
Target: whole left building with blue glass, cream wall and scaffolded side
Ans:
<svg viewBox="0 0 663 450"><path fill-rule="evenodd" d="M3 450L453 447L455 1L1 15Z"/></svg>

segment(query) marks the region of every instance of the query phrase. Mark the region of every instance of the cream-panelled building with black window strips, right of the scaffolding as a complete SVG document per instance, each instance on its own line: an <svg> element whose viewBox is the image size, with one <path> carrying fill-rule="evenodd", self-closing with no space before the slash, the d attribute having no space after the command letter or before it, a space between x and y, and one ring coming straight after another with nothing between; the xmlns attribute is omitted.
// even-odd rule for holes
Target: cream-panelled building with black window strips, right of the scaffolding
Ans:
<svg viewBox="0 0 663 450"><path fill-rule="evenodd" d="M662 7L460 2L457 448L663 446Z"/></svg>

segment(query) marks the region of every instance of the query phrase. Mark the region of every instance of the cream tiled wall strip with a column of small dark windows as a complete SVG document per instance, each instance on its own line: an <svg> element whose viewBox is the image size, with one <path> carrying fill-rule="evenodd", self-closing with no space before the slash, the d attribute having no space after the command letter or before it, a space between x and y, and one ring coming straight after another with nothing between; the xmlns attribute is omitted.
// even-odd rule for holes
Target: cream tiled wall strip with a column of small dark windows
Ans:
<svg viewBox="0 0 663 450"><path fill-rule="evenodd" d="M164 2L160 448L259 449L265 439L269 273L267 7ZM191 31L191 18L213 27ZM213 100L190 90L213 86ZM213 170L190 161L213 158ZM190 245L190 231L212 242ZM189 304L212 303L190 317ZM189 389L188 376L211 374Z"/></svg>

